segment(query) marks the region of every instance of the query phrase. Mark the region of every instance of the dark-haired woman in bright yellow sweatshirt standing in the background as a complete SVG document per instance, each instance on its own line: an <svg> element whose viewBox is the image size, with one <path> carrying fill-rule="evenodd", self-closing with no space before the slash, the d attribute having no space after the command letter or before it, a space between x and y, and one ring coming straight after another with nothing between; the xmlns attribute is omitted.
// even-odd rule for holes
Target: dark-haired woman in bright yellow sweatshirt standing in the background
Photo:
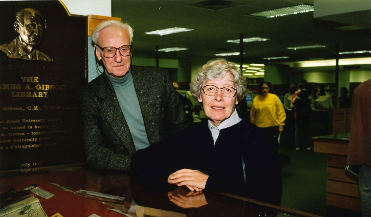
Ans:
<svg viewBox="0 0 371 217"><path fill-rule="evenodd" d="M259 84L259 95L253 99L250 117L251 123L262 128L271 138L272 144L278 148L277 138L283 131L286 113L279 98L269 93L269 85L266 81Z"/></svg>

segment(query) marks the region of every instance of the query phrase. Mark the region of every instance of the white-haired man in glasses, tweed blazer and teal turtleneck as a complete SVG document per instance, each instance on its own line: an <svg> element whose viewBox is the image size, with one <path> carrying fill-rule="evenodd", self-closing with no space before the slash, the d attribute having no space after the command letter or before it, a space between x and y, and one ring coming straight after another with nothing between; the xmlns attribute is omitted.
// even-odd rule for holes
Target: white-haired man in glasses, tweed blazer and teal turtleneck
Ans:
<svg viewBox="0 0 371 217"><path fill-rule="evenodd" d="M190 126L167 73L131 66L133 30L108 20L95 27L95 55L105 72L78 94L86 163L129 170L136 150Z"/></svg>

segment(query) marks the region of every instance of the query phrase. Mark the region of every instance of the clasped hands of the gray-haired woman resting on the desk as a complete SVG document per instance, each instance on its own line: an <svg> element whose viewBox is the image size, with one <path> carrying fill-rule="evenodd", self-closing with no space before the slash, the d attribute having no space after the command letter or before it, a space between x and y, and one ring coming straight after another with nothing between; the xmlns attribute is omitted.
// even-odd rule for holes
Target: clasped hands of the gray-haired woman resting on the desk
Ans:
<svg viewBox="0 0 371 217"><path fill-rule="evenodd" d="M167 182L177 186L186 186L191 191L202 191L205 189L208 175L191 169L181 169L170 174Z"/></svg>

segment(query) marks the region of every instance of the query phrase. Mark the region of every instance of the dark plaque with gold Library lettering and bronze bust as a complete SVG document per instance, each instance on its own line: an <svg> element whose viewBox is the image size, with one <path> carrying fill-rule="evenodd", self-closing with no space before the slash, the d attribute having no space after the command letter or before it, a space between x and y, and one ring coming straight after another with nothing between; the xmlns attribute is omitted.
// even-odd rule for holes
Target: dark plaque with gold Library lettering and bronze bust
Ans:
<svg viewBox="0 0 371 217"><path fill-rule="evenodd" d="M86 23L59 1L0 1L1 171L83 162Z"/></svg>

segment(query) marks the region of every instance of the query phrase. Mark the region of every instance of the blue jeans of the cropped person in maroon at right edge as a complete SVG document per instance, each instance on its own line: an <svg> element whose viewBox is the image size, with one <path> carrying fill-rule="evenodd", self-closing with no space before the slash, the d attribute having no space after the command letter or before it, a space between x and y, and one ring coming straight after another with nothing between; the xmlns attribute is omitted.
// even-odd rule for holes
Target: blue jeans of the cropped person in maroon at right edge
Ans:
<svg viewBox="0 0 371 217"><path fill-rule="evenodd" d="M371 217L371 165L359 166L359 194L362 217Z"/></svg>

